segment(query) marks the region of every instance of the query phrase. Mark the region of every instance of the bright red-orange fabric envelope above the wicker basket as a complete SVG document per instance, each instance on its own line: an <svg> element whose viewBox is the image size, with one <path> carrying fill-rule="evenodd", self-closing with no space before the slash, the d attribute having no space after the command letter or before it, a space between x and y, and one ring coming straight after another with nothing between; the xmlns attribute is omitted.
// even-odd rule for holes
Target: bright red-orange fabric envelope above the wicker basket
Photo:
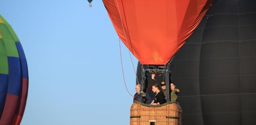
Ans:
<svg viewBox="0 0 256 125"><path fill-rule="evenodd" d="M213 0L103 0L113 26L142 64L165 65Z"/></svg>

